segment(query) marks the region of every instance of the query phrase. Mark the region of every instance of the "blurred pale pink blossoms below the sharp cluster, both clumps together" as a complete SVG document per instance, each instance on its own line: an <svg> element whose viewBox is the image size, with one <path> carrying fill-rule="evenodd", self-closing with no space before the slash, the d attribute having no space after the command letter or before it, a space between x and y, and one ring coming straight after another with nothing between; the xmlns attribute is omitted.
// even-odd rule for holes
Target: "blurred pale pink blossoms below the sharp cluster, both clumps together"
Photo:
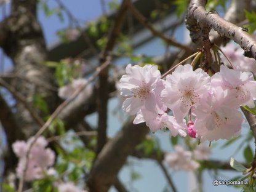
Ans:
<svg viewBox="0 0 256 192"><path fill-rule="evenodd" d="M198 145L196 149L186 151L182 146L175 145L174 153L166 153L164 161L174 170L195 170L198 169L199 163L196 160L207 160L210 154L210 148L206 145Z"/></svg>

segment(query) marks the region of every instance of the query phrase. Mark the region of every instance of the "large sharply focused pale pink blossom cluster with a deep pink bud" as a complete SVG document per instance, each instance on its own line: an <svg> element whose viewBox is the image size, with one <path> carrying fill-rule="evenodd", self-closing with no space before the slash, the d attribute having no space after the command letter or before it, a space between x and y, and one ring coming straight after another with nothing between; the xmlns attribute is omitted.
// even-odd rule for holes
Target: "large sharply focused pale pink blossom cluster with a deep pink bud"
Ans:
<svg viewBox="0 0 256 192"><path fill-rule="evenodd" d="M129 64L118 89L123 110L136 114L134 124L146 122L153 132L167 128L172 136L188 134L202 142L238 136L244 121L239 106L253 108L256 97L253 74L225 65L213 76L180 65L164 80L156 65Z"/></svg>

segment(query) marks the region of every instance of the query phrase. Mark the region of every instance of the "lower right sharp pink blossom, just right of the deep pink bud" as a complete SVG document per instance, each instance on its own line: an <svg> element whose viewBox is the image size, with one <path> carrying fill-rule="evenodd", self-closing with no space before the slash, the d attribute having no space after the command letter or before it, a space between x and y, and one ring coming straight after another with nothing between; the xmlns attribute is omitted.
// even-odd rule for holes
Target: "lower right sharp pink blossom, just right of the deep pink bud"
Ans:
<svg viewBox="0 0 256 192"><path fill-rule="evenodd" d="M237 109L225 105L227 91L221 90L223 89L218 87L207 102L201 102L194 110L194 129L202 142L229 139L240 134L244 121L242 114Z"/></svg>

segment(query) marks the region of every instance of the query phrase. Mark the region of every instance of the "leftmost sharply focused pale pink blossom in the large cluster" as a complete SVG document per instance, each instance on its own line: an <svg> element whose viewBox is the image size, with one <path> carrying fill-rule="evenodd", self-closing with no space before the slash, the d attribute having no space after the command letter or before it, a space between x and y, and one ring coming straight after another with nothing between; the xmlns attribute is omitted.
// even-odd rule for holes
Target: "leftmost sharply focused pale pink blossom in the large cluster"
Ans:
<svg viewBox="0 0 256 192"><path fill-rule="evenodd" d="M121 95L127 97L122 105L126 113L136 114L142 108L157 112L155 89L160 76L156 65L127 65L119 84Z"/></svg>

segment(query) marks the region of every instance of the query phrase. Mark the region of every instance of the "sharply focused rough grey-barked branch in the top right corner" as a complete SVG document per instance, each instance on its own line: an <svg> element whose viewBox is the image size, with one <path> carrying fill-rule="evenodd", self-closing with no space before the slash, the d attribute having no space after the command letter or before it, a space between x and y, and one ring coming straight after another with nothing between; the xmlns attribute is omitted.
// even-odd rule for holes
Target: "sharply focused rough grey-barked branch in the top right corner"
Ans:
<svg viewBox="0 0 256 192"><path fill-rule="evenodd" d="M256 58L256 41L247 33L244 28L220 17L217 12L207 12L204 9L206 0L191 0L186 17L186 26L190 30L193 42L200 45L206 36L209 28L214 29L220 36L233 39L244 49L246 57Z"/></svg>

